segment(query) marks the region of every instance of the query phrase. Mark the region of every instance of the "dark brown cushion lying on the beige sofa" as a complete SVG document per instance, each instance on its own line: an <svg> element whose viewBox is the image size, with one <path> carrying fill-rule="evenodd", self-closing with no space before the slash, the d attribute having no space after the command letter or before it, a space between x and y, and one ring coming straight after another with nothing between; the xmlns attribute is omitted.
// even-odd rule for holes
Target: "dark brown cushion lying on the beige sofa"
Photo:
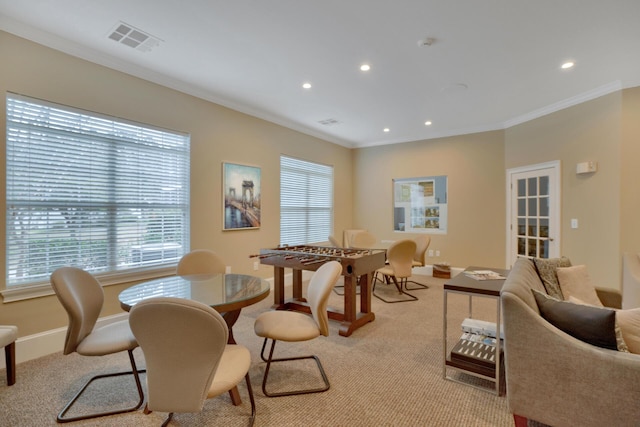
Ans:
<svg viewBox="0 0 640 427"><path fill-rule="evenodd" d="M615 310L560 301L535 289L532 292L540 314L556 328L586 343L618 349Z"/></svg>

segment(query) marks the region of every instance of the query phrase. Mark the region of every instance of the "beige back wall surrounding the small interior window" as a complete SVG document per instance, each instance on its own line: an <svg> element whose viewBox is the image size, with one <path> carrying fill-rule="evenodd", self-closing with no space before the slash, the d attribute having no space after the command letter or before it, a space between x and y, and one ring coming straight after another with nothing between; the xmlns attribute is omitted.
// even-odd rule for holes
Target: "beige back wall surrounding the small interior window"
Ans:
<svg viewBox="0 0 640 427"><path fill-rule="evenodd" d="M505 172L502 131L354 150L355 228L381 240L412 238L393 231L395 178L446 175L448 229L431 235L440 257L427 263L505 266Z"/></svg>

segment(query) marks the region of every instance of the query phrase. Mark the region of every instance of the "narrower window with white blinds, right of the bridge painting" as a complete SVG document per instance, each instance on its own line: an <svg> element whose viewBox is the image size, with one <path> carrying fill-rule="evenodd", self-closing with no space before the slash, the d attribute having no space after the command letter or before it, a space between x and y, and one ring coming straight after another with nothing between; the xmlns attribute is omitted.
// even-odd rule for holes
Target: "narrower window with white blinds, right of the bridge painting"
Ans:
<svg viewBox="0 0 640 427"><path fill-rule="evenodd" d="M324 242L333 229L333 167L280 156L280 244Z"/></svg>

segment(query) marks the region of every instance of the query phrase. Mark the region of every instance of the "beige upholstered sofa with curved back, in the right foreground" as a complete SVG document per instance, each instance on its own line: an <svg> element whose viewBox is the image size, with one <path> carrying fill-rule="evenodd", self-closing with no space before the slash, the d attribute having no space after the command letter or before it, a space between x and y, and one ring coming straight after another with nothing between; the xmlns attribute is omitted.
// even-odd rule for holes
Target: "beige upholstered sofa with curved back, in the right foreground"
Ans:
<svg viewBox="0 0 640 427"><path fill-rule="evenodd" d="M582 342L544 320L531 289L545 292L534 263L520 259L501 292L507 401L517 426L639 426L640 355ZM598 289L605 306L620 293Z"/></svg>

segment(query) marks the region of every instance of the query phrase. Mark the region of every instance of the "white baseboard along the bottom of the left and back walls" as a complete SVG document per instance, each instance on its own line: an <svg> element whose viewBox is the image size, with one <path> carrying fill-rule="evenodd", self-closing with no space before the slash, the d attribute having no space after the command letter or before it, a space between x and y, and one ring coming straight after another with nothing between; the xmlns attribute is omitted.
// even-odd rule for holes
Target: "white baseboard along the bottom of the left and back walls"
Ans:
<svg viewBox="0 0 640 427"><path fill-rule="evenodd" d="M413 269L415 274L431 276L433 275L433 266L426 265L424 267L416 267ZM463 268L451 268L451 277L464 271ZM302 280L309 280L313 275L312 271L303 271ZM273 278L266 279L273 290ZM285 274L285 286L291 285L293 282L293 274ZM119 313L112 316L106 316L98 319L97 326L108 325L109 323L124 320L128 313ZM49 331L40 332L33 335L24 336L16 340L16 363L26 362L28 360L37 359L58 351L62 351L67 328L56 328ZM0 357L0 369L5 368L4 357Z"/></svg>

